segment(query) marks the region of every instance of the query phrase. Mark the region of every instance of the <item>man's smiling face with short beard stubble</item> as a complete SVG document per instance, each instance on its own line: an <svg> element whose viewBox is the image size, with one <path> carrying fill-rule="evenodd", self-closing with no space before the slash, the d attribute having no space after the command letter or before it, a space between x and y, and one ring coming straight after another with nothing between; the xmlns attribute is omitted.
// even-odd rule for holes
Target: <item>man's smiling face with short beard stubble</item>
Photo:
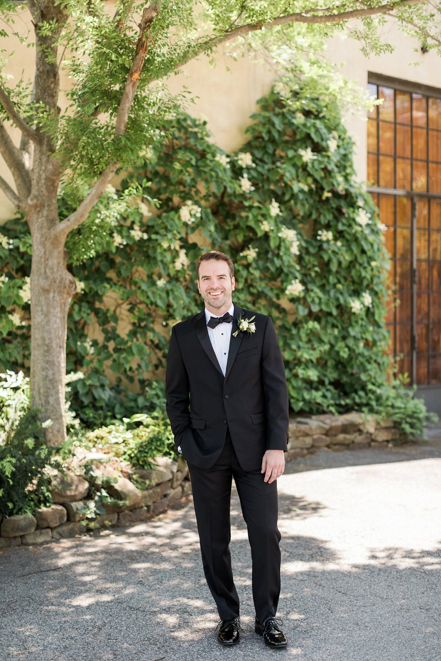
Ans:
<svg viewBox="0 0 441 661"><path fill-rule="evenodd" d="M227 262L209 259L200 264L198 290L206 308L214 315L220 317L231 307L234 284Z"/></svg>

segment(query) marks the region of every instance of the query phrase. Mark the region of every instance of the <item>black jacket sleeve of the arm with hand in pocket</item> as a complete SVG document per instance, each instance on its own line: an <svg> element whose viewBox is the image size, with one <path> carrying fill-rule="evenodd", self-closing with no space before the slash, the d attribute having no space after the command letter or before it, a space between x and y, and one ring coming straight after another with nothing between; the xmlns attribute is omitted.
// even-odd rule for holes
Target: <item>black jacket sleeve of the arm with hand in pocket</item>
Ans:
<svg viewBox="0 0 441 661"><path fill-rule="evenodd" d="M175 444L178 447L182 433L190 428L190 386L175 327L171 331L169 353L167 355L165 395L167 397L167 415L175 436Z"/></svg>

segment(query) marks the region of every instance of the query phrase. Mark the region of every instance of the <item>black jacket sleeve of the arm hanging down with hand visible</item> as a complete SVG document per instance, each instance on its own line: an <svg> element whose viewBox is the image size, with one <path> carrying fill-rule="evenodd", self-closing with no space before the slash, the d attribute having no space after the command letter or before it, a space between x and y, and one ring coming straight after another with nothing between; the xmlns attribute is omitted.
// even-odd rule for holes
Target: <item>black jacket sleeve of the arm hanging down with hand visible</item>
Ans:
<svg viewBox="0 0 441 661"><path fill-rule="evenodd" d="M266 449L286 451L289 428L288 389L282 352L270 317L265 326L261 369L268 430Z"/></svg>

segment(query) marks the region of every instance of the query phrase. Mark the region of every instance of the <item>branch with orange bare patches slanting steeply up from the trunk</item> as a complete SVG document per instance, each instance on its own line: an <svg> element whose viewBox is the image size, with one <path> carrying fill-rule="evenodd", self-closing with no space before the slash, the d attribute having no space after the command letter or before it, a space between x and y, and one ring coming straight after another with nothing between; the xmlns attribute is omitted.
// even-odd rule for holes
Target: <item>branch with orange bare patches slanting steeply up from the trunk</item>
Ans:
<svg viewBox="0 0 441 661"><path fill-rule="evenodd" d="M140 22L140 36L136 42L135 57L130 67L128 77L126 80L126 85L122 93L120 100L120 106L118 108L118 114L116 115L115 120L115 136L124 136L126 132L126 126L128 121L128 116L130 109L132 108L133 100L135 97L136 90L140 83L140 76L142 67L144 64L145 53L147 52L147 46L149 45L149 37L147 32L155 19L159 11L158 5L149 5L145 7L142 18ZM118 168L118 163L110 163L108 167L101 173L95 184L93 184L89 194L84 198L83 202L79 205L77 210L73 214L67 216L59 225L56 227L56 233L58 235L65 235L81 225L83 221L89 215L90 210L98 202L99 198L102 196L104 189L106 188L108 182L116 172Z"/></svg>

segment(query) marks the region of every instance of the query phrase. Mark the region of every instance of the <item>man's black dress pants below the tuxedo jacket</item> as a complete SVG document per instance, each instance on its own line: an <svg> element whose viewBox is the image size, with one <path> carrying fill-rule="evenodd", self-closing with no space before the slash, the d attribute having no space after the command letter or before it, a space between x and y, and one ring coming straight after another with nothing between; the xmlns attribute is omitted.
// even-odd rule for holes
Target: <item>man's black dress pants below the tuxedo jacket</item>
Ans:
<svg viewBox="0 0 441 661"><path fill-rule="evenodd" d="M239 615L229 542L231 483L234 477L247 524L253 563L253 601L259 621L276 615L280 594L280 532L277 482L264 482L261 471L243 471L227 434L219 459L210 469L188 465L198 524L202 564L220 619Z"/></svg>

